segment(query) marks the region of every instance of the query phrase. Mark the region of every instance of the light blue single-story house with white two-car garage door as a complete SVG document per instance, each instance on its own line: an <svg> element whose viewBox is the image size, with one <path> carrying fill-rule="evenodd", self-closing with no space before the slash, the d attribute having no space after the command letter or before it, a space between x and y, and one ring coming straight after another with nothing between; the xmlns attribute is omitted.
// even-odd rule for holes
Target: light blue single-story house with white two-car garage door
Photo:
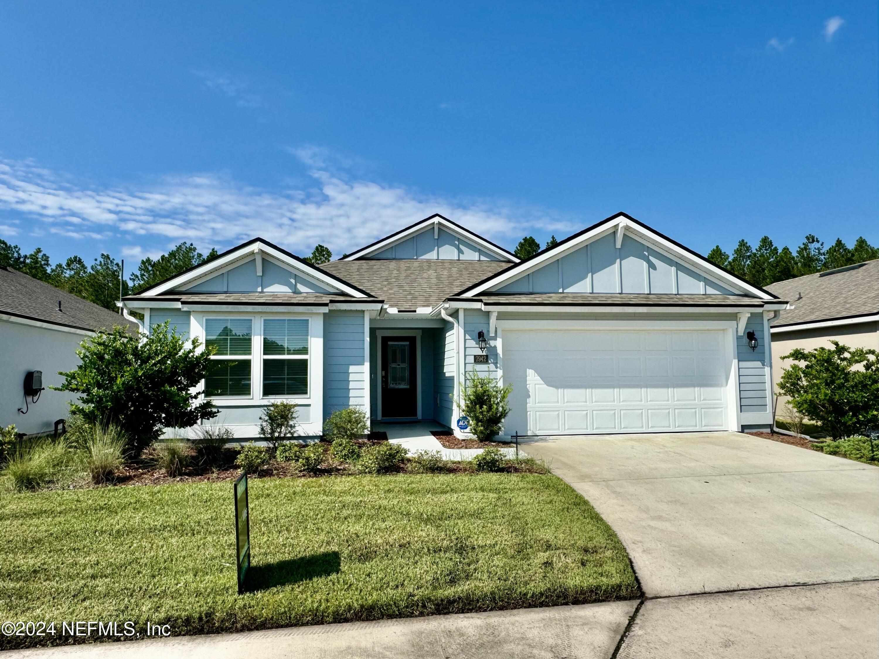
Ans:
<svg viewBox="0 0 879 659"><path fill-rule="evenodd" d="M237 437L269 402L460 432L470 373L512 384L505 434L767 429L787 306L627 214L520 261L441 215L338 261L260 238L123 301L216 346L203 385Z"/></svg>

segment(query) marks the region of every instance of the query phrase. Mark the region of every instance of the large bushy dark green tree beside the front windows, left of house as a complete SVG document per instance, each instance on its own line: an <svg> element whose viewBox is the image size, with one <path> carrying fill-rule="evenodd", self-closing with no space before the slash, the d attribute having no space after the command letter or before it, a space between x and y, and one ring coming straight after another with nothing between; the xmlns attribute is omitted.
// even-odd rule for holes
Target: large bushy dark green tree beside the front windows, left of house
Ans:
<svg viewBox="0 0 879 659"><path fill-rule="evenodd" d="M187 348L167 322L149 337L115 327L86 339L76 351L79 366L59 373L64 382L52 388L79 394L71 414L115 425L127 437L127 453L137 456L165 428L188 428L217 416L214 403L196 404L200 393L193 387L204 380L213 353L199 348L198 338Z"/></svg>

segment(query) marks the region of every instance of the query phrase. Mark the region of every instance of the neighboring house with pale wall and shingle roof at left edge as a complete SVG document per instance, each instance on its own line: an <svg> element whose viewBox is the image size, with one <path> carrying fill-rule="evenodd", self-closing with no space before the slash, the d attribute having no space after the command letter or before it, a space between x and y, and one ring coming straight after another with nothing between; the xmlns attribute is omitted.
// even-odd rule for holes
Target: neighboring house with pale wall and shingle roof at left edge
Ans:
<svg viewBox="0 0 879 659"><path fill-rule="evenodd" d="M76 395L48 387L63 383L59 371L79 365L76 349L84 338L114 325L137 329L119 313L0 266L0 425L27 434L53 431ZM32 382L25 393L27 373L34 372L42 391L34 392Z"/></svg>

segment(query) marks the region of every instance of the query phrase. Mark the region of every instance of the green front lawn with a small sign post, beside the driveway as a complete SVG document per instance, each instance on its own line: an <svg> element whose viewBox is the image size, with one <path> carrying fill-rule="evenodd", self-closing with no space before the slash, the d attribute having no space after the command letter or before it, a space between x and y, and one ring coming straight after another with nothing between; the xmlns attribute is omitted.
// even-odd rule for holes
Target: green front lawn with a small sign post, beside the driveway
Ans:
<svg viewBox="0 0 879 659"><path fill-rule="evenodd" d="M178 635L640 594L614 531L551 474L251 480L240 597L232 506L231 482L0 495L0 621Z"/></svg>

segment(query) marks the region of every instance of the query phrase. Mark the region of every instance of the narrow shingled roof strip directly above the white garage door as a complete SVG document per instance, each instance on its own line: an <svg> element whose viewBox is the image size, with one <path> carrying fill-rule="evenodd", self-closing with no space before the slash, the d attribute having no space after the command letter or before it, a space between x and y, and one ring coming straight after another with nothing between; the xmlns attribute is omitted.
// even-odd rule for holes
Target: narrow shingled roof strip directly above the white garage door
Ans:
<svg viewBox="0 0 879 659"><path fill-rule="evenodd" d="M479 295L486 307L503 305L557 305L584 307L753 307L762 308L765 301L745 295L665 295L661 293L511 293ZM777 300L771 302L777 303Z"/></svg>

